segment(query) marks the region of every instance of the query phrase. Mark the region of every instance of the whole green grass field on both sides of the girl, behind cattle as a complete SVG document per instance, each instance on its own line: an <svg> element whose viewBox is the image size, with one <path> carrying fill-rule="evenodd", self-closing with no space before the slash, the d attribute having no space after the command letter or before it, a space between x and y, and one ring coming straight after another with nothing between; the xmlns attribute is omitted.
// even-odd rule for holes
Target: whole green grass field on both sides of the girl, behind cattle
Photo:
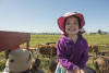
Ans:
<svg viewBox="0 0 109 73"><path fill-rule="evenodd" d="M109 44L109 35L83 35L83 36L87 39L89 45ZM60 37L61 35L32 35L29 46L35 47L38 44L46 44L52 41L57 42ZM0 52L0 61L3 60L3 58L4 58L4 52ZM92 60L87 62L87 65L94 68Z"/></svg>

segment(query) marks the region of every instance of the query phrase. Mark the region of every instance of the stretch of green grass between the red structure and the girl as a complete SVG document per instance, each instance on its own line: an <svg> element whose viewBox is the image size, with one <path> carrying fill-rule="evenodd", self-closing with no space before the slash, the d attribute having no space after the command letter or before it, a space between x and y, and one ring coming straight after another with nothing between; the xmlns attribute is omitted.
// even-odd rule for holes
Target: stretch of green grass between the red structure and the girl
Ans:
<svg viewBox="0 0 109 73"><path fill-rule="evenodd" d="M46 42L52 42L58 41L60 38L60 35L32 35L31 36L31 47L35 47L38 44L46 44Z"/></svg>

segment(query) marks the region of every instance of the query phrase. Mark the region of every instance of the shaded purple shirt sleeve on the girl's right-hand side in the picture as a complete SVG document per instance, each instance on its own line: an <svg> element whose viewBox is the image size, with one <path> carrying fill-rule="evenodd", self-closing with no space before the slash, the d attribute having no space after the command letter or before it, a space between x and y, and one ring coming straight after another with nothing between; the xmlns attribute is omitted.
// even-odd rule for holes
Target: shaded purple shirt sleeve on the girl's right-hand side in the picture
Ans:
<svg viewBox="0 0 109 73"><path fill-rule="evenodd" d="M82 59L81 59L81 61L78 63L80 69L84 69L85 68L85 64L86 64L87 60L88 60L88 44L87 44L87 41L85 41L84 52L83 52Z"/></svg>

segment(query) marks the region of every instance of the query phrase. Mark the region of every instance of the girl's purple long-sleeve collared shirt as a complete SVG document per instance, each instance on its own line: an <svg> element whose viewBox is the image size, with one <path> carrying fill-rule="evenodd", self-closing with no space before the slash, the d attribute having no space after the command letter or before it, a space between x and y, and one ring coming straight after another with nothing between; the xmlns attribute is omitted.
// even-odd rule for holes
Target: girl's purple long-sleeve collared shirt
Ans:
<svg viewBox="0 0 109 73"><path fill-rule="evenodd" d="M76 42L62 36L58 41L57 54L59 62L66 70L75 70L76 65L84 69L88 60L88 44L82 35L78 36Z"/></svg>

